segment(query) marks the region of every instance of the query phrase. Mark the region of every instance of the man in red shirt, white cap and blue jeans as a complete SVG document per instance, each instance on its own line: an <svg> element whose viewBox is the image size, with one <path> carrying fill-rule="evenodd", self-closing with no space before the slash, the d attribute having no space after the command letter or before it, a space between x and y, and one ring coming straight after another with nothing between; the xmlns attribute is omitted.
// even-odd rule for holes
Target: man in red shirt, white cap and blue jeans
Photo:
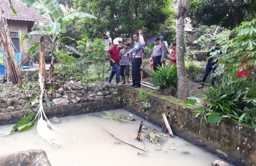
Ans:
<svg viewBox="0 0 256 166"><path fill-rule="evenodd" d="M119 47L118 47L118 40L115 38L113 40L113 46L109 48L108 53L110 56L108 56L110 66L112 67L111 74L108 78L108 83L111 84L112 78L116 74L116 83L120 83L120 69L119 69Z"/></svg>

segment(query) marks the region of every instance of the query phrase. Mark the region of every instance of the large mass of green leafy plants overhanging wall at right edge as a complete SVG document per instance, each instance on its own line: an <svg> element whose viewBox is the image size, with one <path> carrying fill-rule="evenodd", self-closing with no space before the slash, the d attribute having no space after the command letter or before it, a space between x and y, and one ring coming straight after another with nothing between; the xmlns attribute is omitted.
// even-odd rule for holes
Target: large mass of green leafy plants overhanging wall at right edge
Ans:
<svg viewBox="0 0 256 166"><path fill-rule="evenodd" d="M222 74L221 83L214 88L207 88L196 116L204 118L211 116L210 122L217 122L222 118L229 118L239 123L249 123L256 130L256 88L254 75L249 77L237 77L236 72L244 68L252 69L256 58L256 19L250 22L242 22L242 25L235 28L233 33L236 37L232 40L220 40L221 50L226 51L223 55L214 53L214 57L222 58L225 66L217 68L213 76ZM247 61L246 64L243 64ZM243 65L237 65L242 63Z"/></svg>

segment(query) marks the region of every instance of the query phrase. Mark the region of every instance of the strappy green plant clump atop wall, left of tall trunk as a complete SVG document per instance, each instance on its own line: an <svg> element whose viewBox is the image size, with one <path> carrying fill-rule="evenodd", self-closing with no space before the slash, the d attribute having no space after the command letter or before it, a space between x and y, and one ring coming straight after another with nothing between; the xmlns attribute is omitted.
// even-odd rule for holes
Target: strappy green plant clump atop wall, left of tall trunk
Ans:
<svg viewBox="0 0 256 166"><path fill-rule="evenodd" d="M177 89L177 68L175 65L164 65L157 67L157 71L152 70L152 79L155 86L160 90L170 90L170 94L175 96Z"/></svg>

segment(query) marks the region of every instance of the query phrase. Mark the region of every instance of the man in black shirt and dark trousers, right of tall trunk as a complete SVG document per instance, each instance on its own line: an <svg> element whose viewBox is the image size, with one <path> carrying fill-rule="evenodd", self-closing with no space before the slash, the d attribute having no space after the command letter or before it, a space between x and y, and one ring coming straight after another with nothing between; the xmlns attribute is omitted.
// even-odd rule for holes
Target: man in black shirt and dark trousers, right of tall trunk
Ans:
<svg viewBox="0 0 256 166"><path fill-rule="evenodd" d="M209 51L207 53L207 59L206 59L206 68L205 68L205 72L204 72L204 76L203 76L203 80L201 82L201 86L198 87L198 89L200 88L204 88L204 84L205 84L205 81L206 81L206 78L208 77L209 73L211 71L213 71L213 73L215 72L216 68L218 67L219 65L219 62L220 62L220 59L218 59L217 61L214 61L212 55L213 55L213 52L214 51L217 51L217 50L220 50L219 47L217 47L217 43L215 42L215 40L212 40L211 41L211 46L215 46L214 49L212 49L211 51ZM222 54L222 52L220 51L220 54ZM215 85L215 77L213 77L213 80L211 81L211 84L212 85Z"/></svg>

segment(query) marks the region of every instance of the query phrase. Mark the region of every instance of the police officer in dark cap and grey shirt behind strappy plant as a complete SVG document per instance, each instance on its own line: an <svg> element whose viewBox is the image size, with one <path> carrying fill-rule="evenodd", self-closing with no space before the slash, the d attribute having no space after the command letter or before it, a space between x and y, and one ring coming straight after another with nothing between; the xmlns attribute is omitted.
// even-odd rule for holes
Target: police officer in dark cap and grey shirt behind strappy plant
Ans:
<svg viewBox="0 0 256 166"><path fill-rule="evenodd" d="M165 46L160 43L160 38L155 38L155 46L153 48L152 56L150 57L150 61L153 61L153 70L157 71L158 66L162 66L165 57Z"/></svg>

